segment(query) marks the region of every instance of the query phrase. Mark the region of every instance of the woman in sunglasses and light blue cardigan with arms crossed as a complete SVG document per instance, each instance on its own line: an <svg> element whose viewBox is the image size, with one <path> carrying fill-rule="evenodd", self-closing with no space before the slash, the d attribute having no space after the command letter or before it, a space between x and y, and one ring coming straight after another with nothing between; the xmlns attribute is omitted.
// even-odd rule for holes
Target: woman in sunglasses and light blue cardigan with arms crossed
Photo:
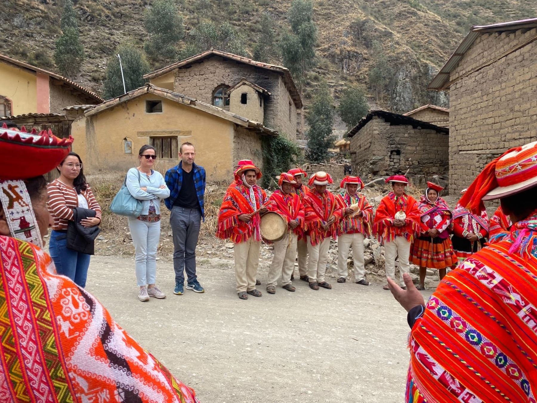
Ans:
<svg viewBox="0 0 537 403"><path fill-rule="evenodd" d="M144 145L138 153L140 165L127 172L127 188L138 200L143 200L139 217L129 217L130 235L136 251L136 282L140 287L138 299L166 298L155 285L157 247L161 238L161 200L170 196L160 172L153 169L157 156L153 146Z"/></svg>

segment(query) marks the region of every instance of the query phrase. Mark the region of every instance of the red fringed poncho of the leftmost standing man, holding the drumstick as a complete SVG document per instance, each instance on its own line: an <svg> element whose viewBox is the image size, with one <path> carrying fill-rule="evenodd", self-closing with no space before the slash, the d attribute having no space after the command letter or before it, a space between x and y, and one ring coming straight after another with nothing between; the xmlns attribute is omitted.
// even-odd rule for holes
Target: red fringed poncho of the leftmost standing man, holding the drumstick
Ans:
<svg viewBox="0 0 537 403"><path fill-rule="evenodd" d="M257 185L253 185L256 197L257 208L266 202L267 195L265 191ZM261 240L261 231L259 229L259 214L254 214L250 222L244 222L238 219L241 214L250 214L254 210L250 204L249 190L244 185L229 187L224 199L220 212L218 213L218 224L216 226L216 236L221 239L230 239L233 243L240 243L255 236L256 241Z"/></svg>

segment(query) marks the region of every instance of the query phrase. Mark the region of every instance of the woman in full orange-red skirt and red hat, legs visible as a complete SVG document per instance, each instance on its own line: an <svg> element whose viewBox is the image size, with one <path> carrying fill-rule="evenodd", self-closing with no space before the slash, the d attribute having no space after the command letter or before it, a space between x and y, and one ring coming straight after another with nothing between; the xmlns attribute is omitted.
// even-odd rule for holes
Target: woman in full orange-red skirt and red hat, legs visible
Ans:
<svg viewBox="0 0 537 403"><path fill-rule="evenodd" d="M440 197L441 186L427 182L427 189L418 203L421 218L420 236L412 243L411 262L419 265L418 290L425 290L427 268L438 269L440 279L446 275L446 269L452 267L457 257L449 239L448 227L452 212L444 199Z"/></svg>

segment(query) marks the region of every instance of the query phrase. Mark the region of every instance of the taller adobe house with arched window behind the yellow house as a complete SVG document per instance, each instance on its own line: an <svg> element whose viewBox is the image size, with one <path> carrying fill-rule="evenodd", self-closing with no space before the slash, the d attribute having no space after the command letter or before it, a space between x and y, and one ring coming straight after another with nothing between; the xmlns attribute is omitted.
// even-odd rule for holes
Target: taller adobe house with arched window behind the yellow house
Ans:
<svg viewBox="0 0 537 403"><path fill-rule="evenodd" d="M224 110L241 111L244 117L296 140L302 99L285 67L210 49L143 77L157 87L188 94ZM242 101L248 106L238 105ZM258 120L260 114L262 120Z"/></svg>

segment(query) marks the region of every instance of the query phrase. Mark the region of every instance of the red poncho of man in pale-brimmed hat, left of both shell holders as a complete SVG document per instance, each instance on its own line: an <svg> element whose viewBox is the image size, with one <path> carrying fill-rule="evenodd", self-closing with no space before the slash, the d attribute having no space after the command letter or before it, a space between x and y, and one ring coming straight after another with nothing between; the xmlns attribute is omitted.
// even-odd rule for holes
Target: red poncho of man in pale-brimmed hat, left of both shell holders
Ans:
<svg viewBox="0 0 537 403"><path fill-rule="evenodd" d="M304 215L306 219L305 228L306 234L311 237L311 244L316 245L322 242L325 238L336 236L341 210L338 208L336 197L332 192L325 190L320 195L316 190L311 190L304 196ZM333 215L336 220L330 226L328 231L321 228L322 224Z"/></svg>

